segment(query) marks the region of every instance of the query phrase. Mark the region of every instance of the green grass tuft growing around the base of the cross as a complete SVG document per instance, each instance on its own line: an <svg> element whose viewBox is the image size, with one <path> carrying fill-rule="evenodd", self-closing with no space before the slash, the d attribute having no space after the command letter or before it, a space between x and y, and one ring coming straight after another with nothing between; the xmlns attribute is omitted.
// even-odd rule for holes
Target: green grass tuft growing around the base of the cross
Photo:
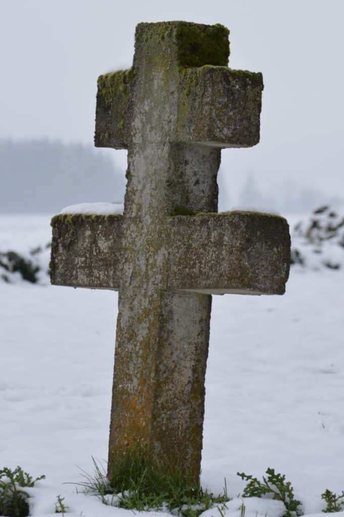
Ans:
<svg viewBox="0 0 344 517"><path fill-rule="evenodd" d="M198 517L203 511L225 505L227 486L222 495L203 490L199 482L183 474L180 467L163 468L144 451L133 449L118 460L110 473L93 458L94 476L84 473L84 482L76 483L86 493L98 495L104 504L128 510L164 510L182 517Z"/></svg>

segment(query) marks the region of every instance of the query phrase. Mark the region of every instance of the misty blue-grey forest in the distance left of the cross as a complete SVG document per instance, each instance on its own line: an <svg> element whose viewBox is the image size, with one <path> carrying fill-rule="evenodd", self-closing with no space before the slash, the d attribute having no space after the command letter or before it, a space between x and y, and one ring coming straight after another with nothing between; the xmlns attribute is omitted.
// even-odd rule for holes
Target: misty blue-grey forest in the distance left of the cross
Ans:
<svg viewBox="0 0 344 517"><path fill-rule="evenodd" d="M54 214L77 203L121 202L124 173L92 146L0 140L0 212Z"/></svg>

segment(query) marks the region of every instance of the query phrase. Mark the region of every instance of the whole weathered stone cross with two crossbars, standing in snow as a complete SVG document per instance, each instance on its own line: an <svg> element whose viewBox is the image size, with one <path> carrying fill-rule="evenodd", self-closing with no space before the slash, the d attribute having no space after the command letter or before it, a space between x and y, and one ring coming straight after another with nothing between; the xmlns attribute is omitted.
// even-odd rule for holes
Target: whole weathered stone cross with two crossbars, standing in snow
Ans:
<svg viewBox="0 0 344 517"><path fill-rule="evenodd" d="M119 290L110 476L139 444L198 479L211 294L285 292L287 221L217 214L221 148L259 142L263 89L228 68L228 34L137 26L132 68L98 79L95 145L128 149L124 215L52 221L52 283Z"/></svg>

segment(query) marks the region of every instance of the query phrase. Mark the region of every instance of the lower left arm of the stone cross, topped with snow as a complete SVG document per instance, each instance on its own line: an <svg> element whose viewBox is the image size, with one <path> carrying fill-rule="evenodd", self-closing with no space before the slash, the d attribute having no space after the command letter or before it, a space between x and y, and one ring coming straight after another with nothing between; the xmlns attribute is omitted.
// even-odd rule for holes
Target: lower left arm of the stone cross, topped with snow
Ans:
<svg viewBox="0 0 344 517"><path fill-rule="evenodd" d="M53 217L50 278L53 285L119 289L121 215Z"/></svg>

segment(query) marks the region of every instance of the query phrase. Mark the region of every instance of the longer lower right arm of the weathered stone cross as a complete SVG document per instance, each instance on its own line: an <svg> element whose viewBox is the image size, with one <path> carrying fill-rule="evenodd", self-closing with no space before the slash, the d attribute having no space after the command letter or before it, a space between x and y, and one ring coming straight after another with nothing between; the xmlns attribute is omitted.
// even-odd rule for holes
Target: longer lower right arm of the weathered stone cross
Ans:
<svg viewBox="0 0 344 517"><path fill-rule="evenodd" d="M169 236L171 290L285 293L290 236L282 217L245 211L176 216Z"/></svg>

